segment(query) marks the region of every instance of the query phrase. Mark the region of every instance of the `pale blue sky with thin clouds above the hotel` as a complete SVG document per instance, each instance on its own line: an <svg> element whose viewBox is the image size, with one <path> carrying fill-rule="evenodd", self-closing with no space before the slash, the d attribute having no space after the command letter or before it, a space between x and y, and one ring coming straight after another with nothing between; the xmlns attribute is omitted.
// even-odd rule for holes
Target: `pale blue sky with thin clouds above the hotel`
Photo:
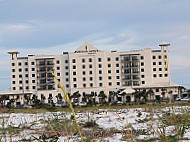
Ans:
<svg viewBox="0 0 190 142"><path fill-rule="evenodd" d="M61 54L87 41L128 51L167 41L171 79L190 88L189 0L0 0L0 91L10 87L7 51Z"/></svg>

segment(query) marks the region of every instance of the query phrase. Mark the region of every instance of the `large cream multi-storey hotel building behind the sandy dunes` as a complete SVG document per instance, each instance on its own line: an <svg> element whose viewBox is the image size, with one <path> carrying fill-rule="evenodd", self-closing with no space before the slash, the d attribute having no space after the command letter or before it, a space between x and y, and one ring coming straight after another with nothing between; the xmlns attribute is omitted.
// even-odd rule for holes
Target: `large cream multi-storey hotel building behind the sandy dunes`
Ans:
<svg viewBox="0 0 190 142"><path fill-rule="evenodd" d="M170 80L170 44L164 42L159 46L158 50L104 52L86 42L74 52L27 57L19 57L18 51L9 51L11 89L0 95L17 97L21 104L26 95L30 98L36 95L39 99L45 96L45 102L52 97L55 103L56 96L63 93L51 70L69 94L79 91L80 102L85 94L98 95L104 91L108 96L110 91L127 89L152 89L154 98L163 97L164 89L165 97L173 98L180 95L180 86ZM122 101L134 101L134 98L129 95Z"/></svg>

